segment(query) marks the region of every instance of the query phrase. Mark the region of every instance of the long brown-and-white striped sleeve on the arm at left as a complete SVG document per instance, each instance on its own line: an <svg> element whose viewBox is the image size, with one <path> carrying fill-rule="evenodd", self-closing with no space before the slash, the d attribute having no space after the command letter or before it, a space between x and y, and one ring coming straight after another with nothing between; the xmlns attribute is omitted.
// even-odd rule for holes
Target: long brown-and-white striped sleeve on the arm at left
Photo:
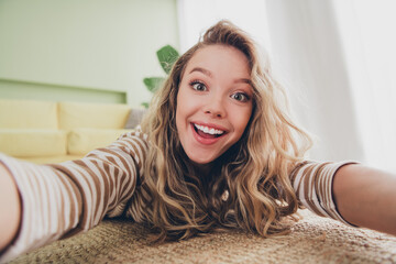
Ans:
<svg viewBox="0 0 396 264"><path fill-rule="evenodd" d="M146 148L146 135L135 131L81 160L61 164L35 165L0 155L22 202L19 234L0 262L89 230L105 216L124 213L143 174Z"/></svg>

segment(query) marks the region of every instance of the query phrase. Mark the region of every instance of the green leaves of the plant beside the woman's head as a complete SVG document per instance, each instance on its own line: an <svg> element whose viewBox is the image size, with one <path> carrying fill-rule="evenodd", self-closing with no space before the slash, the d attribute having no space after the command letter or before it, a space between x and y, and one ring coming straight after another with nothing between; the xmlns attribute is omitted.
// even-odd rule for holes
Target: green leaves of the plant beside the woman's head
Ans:
<svg viewBox="0 0 396 264"><path fill-rule="evenodd" d="M174 63L179 57L178 52L170 45L163 46L156 52L161 67L165 74L168 75ZM165 81L165 77L147 77L143 79L143 82L147 90L155 92ZM142 106L148 108L148 102L142 102Z"/></svg>

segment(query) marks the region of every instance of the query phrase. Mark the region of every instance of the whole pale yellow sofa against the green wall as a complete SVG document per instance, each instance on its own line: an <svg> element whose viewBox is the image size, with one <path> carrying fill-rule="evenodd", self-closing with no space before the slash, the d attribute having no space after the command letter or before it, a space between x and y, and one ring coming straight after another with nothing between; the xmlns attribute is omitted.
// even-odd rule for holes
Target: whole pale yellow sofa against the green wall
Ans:
<svg viewBox="0 0 396 264"><path fill-rule="evenodd" d="M0 152L37 164L80 158L130 131L142 114L121 103L0 99Z"/></svg>

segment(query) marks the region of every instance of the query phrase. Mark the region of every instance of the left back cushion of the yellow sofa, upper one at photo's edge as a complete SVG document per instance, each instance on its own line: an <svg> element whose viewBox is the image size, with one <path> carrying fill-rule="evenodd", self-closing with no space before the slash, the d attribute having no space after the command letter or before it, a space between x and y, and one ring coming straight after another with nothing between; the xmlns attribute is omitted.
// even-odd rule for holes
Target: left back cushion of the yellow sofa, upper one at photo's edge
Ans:
<svg viewBox="0 0 396 264"><path fill-rule="evenodd" d="M1 129L57 129L57 103L0 100Z"/></svg>

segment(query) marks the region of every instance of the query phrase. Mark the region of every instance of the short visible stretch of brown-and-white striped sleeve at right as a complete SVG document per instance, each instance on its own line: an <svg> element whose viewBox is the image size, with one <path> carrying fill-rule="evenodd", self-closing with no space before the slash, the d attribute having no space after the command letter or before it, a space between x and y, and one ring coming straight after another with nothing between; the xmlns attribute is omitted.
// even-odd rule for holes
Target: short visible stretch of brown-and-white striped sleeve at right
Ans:
<svg viewBox="0 0 396 264"><path fill-rule="evenodd" d="M332 196L332 182L340 167L353 163L355 162L298 164L290 174L290 180L300 204L318 216L352 226L337 210Z"/></svg>

